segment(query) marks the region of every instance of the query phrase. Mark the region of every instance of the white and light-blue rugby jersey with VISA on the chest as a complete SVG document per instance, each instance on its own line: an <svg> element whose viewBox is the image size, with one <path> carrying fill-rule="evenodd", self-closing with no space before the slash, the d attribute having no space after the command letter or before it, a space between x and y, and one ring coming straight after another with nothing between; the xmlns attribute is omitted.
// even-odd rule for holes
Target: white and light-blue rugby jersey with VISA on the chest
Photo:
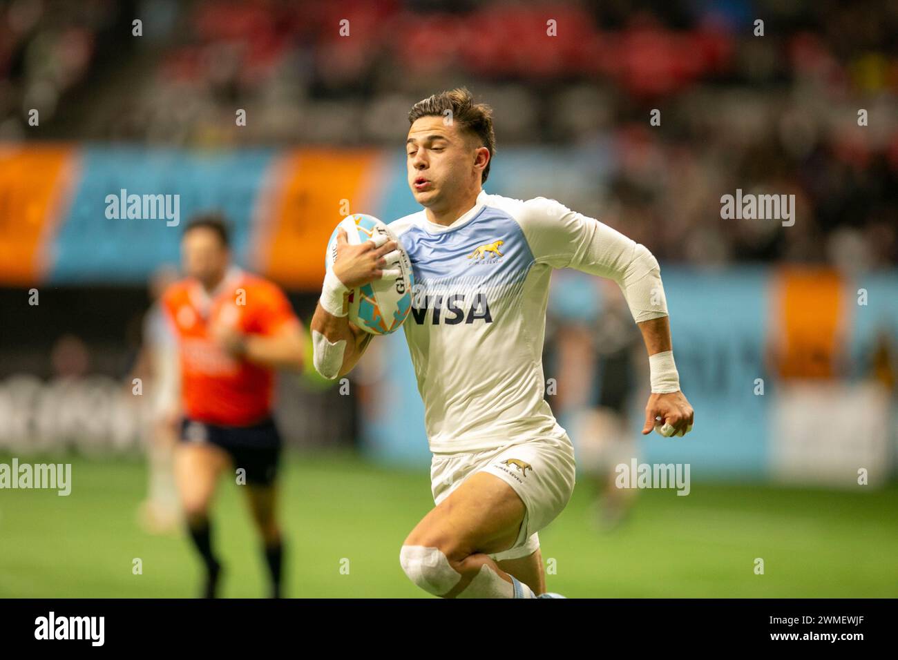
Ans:
<svg viewBox="0 0 898 660"><path fill-rule="evenodd" d="M620 282L637 243L554 199L522 201L483 190L453 224L432 223L422 209L390 229L415 274L403 328L430 451L479 452L565 437L543 399L552 268Z"/></svg>

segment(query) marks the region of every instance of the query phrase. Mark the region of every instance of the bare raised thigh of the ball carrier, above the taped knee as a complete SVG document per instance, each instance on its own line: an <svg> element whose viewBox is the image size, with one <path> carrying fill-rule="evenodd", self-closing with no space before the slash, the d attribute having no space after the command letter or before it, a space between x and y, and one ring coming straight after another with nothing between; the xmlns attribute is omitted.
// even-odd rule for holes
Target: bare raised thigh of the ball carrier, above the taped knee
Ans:
<svg viewBox="0 0 898 660"><path fill-rule="evenodd" d="M450 560L501 552L515 543L525 513L514 488L476 472L424 516L405 544L439 548Z"/></svg>

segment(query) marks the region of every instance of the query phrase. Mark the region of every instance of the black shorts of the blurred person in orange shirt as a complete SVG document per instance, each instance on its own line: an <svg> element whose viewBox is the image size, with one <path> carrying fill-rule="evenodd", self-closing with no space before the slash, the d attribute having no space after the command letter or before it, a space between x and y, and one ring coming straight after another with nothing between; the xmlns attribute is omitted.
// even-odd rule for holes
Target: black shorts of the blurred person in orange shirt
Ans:
<svg viewBox="0 0 898 660"><path fill-rule="evenodd" d="M185 418L180 441L221 447L231 457L235 470L246 471L246 483L270 486L277 476L281 437L273 418L249 427L223 427Z"/></svg>

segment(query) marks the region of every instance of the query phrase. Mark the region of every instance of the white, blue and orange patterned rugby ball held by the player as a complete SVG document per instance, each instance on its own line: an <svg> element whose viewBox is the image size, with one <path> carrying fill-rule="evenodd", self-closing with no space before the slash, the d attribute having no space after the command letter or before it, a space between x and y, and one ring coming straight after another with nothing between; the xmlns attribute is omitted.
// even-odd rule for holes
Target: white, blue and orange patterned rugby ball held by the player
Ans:
<svg viewBox="0 0 898 660"><path fill-rule="evenodd" d="M324 266L328 270L333 267L334 259L337 256L337 232L340 227L346 230L347 240L352 245L370 241L378 234L383 234L399 244L399 247L396 248L399 258L384 267L398 269L399 277L375 279L374 282L369 282L349 292L349 321L351 323L374 335L388 335L399 330L409 316L411 289L415 286L415 276L411 271L409 255L402 249L401 243L386 224L374 216L357 213L343 218L330 234L328 251L324 259Z"/></svg>

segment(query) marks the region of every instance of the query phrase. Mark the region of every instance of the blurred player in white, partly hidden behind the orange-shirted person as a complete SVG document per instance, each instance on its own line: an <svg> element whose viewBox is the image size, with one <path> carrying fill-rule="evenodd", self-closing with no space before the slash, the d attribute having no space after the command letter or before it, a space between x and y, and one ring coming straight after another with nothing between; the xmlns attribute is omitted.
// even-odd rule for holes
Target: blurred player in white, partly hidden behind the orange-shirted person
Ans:
<svg viewBox="0 0 898 660"><path fill-rule="evenodd" d="M171 532L180 520L173 464L181 412L180 361L177 339L162 303L163 293L177 279L176 268L163 266L150 280L153 304L144 316L143 346L133 374L143 379L144 392L150 395L145 436L148 483L138 515L144 528L153 533Z"/></svg>

